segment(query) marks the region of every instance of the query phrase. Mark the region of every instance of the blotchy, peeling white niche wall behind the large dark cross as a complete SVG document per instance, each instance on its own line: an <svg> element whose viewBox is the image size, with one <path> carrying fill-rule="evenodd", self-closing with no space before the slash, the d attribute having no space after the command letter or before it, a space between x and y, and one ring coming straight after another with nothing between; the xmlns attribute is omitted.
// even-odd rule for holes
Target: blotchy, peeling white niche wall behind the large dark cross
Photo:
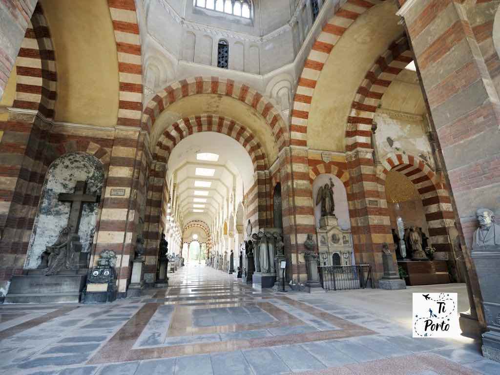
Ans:
<svg viewBox="0 0 500 375"><path fill-rule="evenodd" d="M86 181L87 194L101 195L104 171L101 162L83 152L69 152L55 159L43 182L24 268L36 268L45 246L52 245L67 226L71 202L59 201L59 193L73 193L77 181ZM78 234L82 252L90 252L99 203L83 203Z"/></svg>

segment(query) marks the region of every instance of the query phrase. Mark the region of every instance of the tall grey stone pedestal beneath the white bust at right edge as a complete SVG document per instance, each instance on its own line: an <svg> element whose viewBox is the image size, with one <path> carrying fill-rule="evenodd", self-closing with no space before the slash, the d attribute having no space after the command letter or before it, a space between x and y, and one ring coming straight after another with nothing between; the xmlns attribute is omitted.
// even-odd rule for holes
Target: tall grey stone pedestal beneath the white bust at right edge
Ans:
<svg viewBox="0 0 500 375"><path fill-rule="evenodd" d="M480 246L471 253L481 289L487 331L482 334L482 354L500 362L500 248Z"/></svg>

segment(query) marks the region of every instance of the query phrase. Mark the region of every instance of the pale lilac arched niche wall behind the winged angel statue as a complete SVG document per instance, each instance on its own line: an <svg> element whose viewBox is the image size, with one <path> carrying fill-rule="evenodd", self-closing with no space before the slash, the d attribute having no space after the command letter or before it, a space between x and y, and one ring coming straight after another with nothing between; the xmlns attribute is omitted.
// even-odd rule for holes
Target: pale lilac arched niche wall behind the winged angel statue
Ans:
<svg viewBox="0 0 500 375"><path fill-rule="evenodd" d="M335 216L338 219L338 225L343 229L350 228L349 220L349 207L347 205L347 192L345 191L345 186L343 182L334 174L322 173L314 178L312 182L312 198L314 204L314 222L316 228L319 227L319 219L321 218L321 205L315 204L317 191L320 186L324 186L325 183L330 184L330 178L333 181L335 187L333 188L333 200L335 201Z"/></svg>

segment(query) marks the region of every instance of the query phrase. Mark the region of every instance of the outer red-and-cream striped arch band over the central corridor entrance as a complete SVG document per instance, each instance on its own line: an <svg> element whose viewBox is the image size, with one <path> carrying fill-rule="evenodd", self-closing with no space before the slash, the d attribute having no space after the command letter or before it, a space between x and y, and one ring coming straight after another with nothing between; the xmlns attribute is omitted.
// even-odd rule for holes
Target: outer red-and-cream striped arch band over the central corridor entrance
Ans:
<svg viewBox="0 0 500 375"><path fill-rule="evenodd" d="M142 128L151 131L155 120L168 105L191 95L211 93L233 97L252 106L272 130L278 149L288 145L287 127L279 111L266 97L246 84L218 77L194 77L175 82L157 93L142 114Z"/></svg>

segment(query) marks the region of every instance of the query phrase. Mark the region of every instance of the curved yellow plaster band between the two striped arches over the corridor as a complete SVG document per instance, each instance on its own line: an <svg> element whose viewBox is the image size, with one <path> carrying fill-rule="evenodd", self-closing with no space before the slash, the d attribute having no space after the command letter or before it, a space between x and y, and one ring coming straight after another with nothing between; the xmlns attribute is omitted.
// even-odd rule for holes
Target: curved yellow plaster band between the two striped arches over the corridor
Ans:
<svg viewBox="0 0 500 375"><path fill-rule="evenodd" d="M278 147L272 130L255 108L233 97L217 94L186 96L170 104L154 122L150 134L151 150L167 126L181 118L200 114L217 114L232 118L251 131L260 141L268 165L277 158Z"/></svg>

